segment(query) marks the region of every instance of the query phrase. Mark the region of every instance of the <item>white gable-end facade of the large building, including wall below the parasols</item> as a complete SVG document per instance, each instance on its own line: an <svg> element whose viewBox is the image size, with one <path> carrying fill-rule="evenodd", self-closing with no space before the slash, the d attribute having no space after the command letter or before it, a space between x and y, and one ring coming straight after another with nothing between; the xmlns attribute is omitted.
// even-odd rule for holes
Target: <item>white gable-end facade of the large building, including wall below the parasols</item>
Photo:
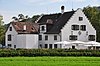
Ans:
<svg viewBox="0 0 100 66"><path fill-rule="evenodd" d="M83 17L82 21L79 21L79 17ZM79 30L72 30L71 26L72 25L79 25ZM81 25L86 25L86 31L80 30ZM80 32L80 34L79 34ZM61 37L62 41L74 41L70 40L69 36L70 35L76 35L78 41L84 41L88 42L89 41L89 35L95 35L95 41L96 41L96 30L93 28L85 14L82 12L81 9L78 9L71 19L66 23L66 25L61 29ZM83 45L68 45L66 48L72 48L72 46L75 46L76 49L87 49L88 47L83 46Z"/></svg>

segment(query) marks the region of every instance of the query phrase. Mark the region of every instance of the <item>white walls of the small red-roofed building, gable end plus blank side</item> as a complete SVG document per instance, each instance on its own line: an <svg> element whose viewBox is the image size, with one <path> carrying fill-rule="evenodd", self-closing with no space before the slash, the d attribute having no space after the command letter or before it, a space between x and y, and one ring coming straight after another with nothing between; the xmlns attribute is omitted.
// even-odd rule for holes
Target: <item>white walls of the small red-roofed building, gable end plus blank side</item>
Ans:
<svg viewBox="0 0 100 66"><path fill-rule="evenodd" d="M12 27L12 31L10 31ZM8 35L11 35L11 40L8 41ZM9 48L38 48L38 34L18 34L15 28L10 24L6 32L6 46Z"/></svg>

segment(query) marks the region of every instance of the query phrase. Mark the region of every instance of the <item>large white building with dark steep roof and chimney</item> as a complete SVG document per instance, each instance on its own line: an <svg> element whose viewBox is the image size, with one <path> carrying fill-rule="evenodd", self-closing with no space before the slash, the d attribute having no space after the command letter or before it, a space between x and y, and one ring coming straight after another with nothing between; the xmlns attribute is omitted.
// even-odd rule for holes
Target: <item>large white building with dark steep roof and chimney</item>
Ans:
<svg viewBox="0 0 100 66"><path fill-rule="evenodd" d="M62 8L61 8L62 9ZM60 48L59 41L96 41L96 30L81 9L44 15L40 25L39 45L42 48ZM62 46L63 48L63 46ZM85 46L68 45L66 48L87 49Z"/></svg>

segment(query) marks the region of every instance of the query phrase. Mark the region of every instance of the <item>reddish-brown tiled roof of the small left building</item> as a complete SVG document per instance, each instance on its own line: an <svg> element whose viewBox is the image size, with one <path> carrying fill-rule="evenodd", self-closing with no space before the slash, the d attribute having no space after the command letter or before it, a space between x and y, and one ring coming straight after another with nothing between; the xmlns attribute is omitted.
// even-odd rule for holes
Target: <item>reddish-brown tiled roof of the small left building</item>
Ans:
<svg viewBox="0 0 100 66"><path fill-rule="evenodd" d="M18 34L34 34L38 33L39 25L31 22L11 22ZM24 30L26 25L26 30Z"/></svg>

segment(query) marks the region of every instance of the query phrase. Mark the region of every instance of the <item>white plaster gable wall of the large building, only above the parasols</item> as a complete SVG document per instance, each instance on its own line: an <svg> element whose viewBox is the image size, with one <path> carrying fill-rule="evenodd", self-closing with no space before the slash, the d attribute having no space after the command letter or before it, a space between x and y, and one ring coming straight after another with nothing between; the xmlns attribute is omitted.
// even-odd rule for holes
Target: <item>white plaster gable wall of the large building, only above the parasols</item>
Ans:
<svg viewBox="0 0 100 66"><path fill-rule="evenodd" d="M79 21L79 17L83 17L83 21ZM84 15L81 9L78 9L71 19L66 23L66 25L61 30L62 41L70 41L69 35L71 35L71 31L73 31L73 35L78 36L79 41L89 41L88 35L86 35L86 31L74 31L71 30L71 25L86 25L86 31L88 31L88 35L96 35L96 30L93 28L87 17ZM81 32L81 35L78 32Z"/></svg>

